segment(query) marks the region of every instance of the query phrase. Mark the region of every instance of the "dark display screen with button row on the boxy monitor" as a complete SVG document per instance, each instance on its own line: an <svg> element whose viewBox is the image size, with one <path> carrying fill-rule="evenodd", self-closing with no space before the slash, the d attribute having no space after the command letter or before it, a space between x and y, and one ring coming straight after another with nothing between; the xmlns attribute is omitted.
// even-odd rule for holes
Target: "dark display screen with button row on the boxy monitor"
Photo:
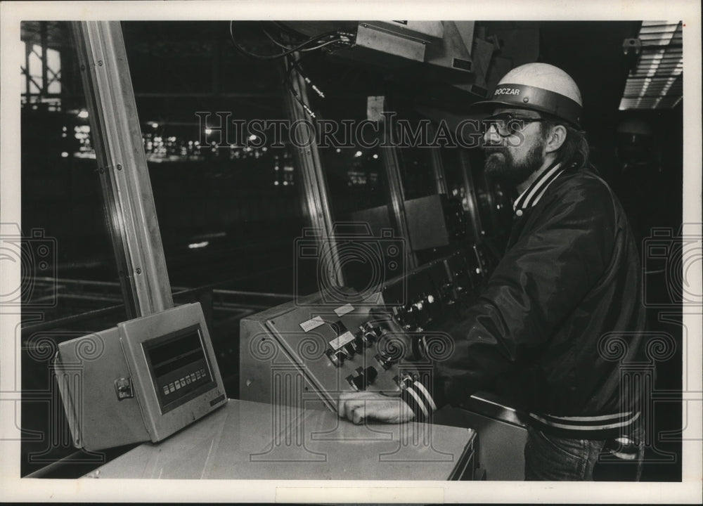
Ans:
<svg viewBox="0 0 703 506"><path fill-rule="evenodd" d="M200 325L192 325L142 344L161 413L216 386L200 332Z"/></svg>

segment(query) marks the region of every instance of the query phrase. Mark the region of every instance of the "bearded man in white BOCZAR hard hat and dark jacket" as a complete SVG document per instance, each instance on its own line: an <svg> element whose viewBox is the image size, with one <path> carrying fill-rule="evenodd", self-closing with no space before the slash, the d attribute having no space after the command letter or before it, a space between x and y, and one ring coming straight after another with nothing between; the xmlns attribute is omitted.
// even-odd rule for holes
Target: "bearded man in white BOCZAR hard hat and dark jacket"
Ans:
<svg viewBox="0 0 703 506"><path fill-rule="evenodd" d="M641 392L621 384L643 349L640 264L620 203L588 164L581 93L557 67L530 63L475 106L491 113L486 172L520 195L505 256L444 327L451 352L432 374L404 375L399 396L342 394L339 415L424 422L510 377L529 414L526 479L591 480L608 451L641 462ZM430 361L431 347L413 337L406 359Z"/></svg>

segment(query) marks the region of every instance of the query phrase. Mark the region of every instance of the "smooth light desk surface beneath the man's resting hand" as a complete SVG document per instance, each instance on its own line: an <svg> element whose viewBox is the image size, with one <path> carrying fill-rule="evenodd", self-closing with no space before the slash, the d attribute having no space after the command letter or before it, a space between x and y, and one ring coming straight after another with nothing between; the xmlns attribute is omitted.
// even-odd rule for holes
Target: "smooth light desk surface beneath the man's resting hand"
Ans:
<svg viewBox="0 0 703 506"><path fill-rule="evenodd" d="M131 479L472 479L472 429L354 425L328 410L230 400L86 475Z"/></svg>

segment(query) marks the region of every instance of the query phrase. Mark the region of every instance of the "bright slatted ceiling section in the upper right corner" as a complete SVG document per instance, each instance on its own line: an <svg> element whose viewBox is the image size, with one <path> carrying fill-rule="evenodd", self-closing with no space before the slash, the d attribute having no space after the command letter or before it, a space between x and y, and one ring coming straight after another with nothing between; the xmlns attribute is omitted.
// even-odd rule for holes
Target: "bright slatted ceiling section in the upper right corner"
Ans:
<svg viewBox="0 0 703 506"><path fill-rule="evenodd" d="M644 21L642 54L630 72L620 110L671 109L683 98L681 21Z"/></svg>

